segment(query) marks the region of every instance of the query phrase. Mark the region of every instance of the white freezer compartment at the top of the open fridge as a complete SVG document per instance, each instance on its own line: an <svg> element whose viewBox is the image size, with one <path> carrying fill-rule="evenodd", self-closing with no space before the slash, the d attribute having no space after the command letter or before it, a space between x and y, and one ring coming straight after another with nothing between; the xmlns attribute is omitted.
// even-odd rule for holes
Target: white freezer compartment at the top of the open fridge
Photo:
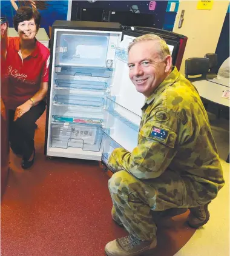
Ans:
<svg viewBox="0 0 230 256"><path fill-rule="evenodd" d="M56 64L113 67L120 33L99 31L58 31Z"/></svg>

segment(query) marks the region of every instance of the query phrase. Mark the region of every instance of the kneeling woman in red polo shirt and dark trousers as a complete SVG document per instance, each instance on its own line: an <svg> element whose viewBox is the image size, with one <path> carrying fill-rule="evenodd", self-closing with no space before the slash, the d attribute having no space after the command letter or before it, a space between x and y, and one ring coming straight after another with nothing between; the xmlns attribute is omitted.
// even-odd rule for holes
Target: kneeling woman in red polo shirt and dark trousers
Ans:
<svg viewBox="0 0 230 256"><path fill-rule="evenodd" d="M3 97L9 118L10 147L22 155L22 168L32 166L35 158L35 122L45 110L50 52L35 38L41 15L30 7L18 8L13 25L19 37L8 38L4 61Z"/></svg>

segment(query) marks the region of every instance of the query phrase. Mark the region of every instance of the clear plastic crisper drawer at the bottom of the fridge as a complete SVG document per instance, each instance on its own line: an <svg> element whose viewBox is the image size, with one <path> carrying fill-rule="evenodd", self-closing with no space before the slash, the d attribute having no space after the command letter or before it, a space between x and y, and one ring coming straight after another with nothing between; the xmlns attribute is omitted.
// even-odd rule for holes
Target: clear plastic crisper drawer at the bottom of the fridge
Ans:
<svg viewBox="0 0 230 256"><path fill-rule="evenodd" d="M102 126L94 124L51 123L51 147L78 147L83 150L100 151Z"/></svg>

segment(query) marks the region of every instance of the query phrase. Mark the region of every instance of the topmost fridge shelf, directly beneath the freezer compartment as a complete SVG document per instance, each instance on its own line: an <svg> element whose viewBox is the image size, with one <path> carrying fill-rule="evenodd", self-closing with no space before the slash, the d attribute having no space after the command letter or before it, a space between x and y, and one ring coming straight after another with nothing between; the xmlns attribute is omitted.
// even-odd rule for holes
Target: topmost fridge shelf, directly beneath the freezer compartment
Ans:
<svg viewBox="0 0 230 256"><path fill-rule="evenodd" d="M107 67L72 67L56 65L55 72L58 75L96 76L110 78L113 74L113 69Z"/></svg>

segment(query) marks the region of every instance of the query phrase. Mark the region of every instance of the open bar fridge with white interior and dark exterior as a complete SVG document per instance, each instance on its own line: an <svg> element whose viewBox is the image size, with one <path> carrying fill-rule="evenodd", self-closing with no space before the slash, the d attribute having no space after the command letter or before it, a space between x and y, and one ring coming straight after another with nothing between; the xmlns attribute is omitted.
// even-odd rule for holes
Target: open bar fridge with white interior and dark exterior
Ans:
<svg viewBox="0 0 230 256"><path fill-rule="evenodd" d="M110 22L56 21L52 26L45 155L107 164L116 147L137 146L145 96L128 76L128 45L156 33L180 67L187 38Z"/></svg>

